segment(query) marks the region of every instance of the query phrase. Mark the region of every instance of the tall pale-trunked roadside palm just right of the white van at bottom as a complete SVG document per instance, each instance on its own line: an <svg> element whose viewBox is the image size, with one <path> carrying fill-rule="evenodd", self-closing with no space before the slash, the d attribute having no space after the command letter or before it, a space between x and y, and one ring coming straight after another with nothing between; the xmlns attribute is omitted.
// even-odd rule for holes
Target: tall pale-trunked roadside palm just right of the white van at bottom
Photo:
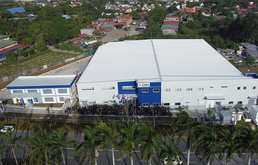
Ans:
<svg viewBox="0 0 258 165"><path fill-rule="evenodd" d="M178 139L176 141L177 145L182 140L183 136L187 136L186 151L187 151L187 165L189 165L190 149L192 145L195 144L197 141L196 137L194 136L194 130L198 125L200 125L200 123L196 121L193 122L192 118L185 111L176 113L176 115L178 119L174 120L171 123L171 126L178 128L178 130L174 133L175 135L178 135Z"/></svg>

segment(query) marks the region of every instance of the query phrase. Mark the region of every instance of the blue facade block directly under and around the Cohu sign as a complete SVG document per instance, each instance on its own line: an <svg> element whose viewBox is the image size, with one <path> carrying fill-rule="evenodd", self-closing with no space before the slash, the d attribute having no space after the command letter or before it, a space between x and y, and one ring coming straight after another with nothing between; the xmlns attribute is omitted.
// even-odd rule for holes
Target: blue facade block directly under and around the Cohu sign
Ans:
<svg viewBox="0 0 258 165"><path fill-rule="evenodd" d="M148 103L149 106L159 103L161 106L161 82L150 83L150 86L138 87L137 90L139 106L143 106L143 103ZM148 90L148 92L144 92L144 90Z"/></svg>

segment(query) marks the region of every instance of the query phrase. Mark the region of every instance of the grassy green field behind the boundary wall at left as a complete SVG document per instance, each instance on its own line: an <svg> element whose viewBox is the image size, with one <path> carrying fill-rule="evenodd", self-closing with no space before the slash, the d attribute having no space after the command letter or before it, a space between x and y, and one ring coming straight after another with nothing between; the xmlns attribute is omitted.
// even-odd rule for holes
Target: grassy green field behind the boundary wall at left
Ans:
<svg viewBox="0 0 258 165"><path fill-rule="evenodd" d="M71 57L78 56L76 54L71 54ZM17 63L2 65L0 67L0 77L5 77L18 73L23 70L29 70L35 67L46 65L49 63L58 62L64 59L70 58L69 53L54 52L51 50L46 50L43 53L34 54L32 57L24 57L20 59Z"/></svg>

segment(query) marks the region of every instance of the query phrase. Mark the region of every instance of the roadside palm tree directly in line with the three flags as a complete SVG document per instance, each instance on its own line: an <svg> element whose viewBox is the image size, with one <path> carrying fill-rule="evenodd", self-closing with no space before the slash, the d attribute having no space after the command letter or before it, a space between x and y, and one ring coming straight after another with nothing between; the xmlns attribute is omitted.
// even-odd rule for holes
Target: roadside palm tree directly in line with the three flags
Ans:
<svg viewBox="0 0 258 165"><path fill-rule="evenodd" d="M121 140L118 143L118 152L117 155L121 154L120 159L124 159L128 155L131 159L131 165L134 164L134 156L133 156L133 148L135 148L135 130L137 128L137 124L132 125L127 128L125 125L120 125L121 132L118 133L118 137Z"/></svg>

